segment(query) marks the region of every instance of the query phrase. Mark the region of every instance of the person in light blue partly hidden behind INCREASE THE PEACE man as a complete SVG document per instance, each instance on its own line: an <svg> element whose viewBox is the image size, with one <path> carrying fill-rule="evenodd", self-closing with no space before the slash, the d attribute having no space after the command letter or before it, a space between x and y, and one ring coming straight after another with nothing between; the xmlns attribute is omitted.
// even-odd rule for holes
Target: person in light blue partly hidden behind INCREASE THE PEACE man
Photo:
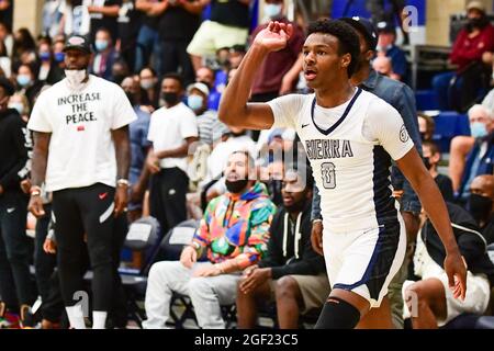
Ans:
<svg viewBox="0 0 494 351"><path fill-rule="evenodd" d="M142 216L144 193L147 190L149 180L149 171L145 167L145 162L147 149L150 146L150 143L147 140L150 114L141 107L141 87L137 79L127 77L122 81L121 86L137 115L137 120L128 125L131 138L131 169L128 172L131 201L128 202L128 219L134 222Z"/></svg>

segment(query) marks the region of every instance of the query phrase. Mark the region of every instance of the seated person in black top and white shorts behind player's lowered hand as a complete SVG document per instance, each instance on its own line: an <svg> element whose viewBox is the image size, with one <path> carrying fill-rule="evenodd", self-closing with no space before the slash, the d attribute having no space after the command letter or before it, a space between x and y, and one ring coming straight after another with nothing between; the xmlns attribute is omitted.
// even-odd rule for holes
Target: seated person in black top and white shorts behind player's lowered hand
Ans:
<svg viewBox="0 0 494 351"><path fill-rule="evenodd" d="M444 269L445 247L437 231L427 220L417 238L414 265L422 281L406 281L403 296L407 307L405 316L412 314L414 329L436 329L457 316L469 313L482 315L489 305L491 286L494 283L494 264L486 253L485 241L472 216L462 207L447 203L458 247L468 267L467 295L463 301L453 297L454 292ZM418 299L418 301L417 301Z"/></svg>

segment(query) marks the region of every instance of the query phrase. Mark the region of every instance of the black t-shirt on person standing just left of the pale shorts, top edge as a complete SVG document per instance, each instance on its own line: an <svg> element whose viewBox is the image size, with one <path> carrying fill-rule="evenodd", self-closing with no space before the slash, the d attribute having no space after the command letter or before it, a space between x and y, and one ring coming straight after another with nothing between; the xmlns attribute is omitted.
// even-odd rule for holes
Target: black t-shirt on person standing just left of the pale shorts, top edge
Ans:
<svg viewBox="0 0 494 351"><path fill-rule="evenodd" d="M169 7L159 19L159 38L190 42L200 25L200 15L190 13L182 7Z"/></svg>

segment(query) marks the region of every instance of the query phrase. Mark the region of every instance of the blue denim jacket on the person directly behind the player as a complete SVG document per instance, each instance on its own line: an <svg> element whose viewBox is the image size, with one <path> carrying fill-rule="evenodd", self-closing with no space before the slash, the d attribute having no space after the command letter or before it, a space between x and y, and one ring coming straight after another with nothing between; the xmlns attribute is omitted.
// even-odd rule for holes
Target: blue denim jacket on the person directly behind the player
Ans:
<svg viewBox="0 0 494 351"><path fill-rule="evenodd" d="M422 140L420 134L418 133L415 95L412 89L405 83L379 75L373 69L371 69L369 77L360 84L360 88L381 98L400 112L415 147L422 156ZM393 163L391 180L394 189L404 191L401 210L404 212L419 213L422 208L420 201L395 163ZM321 195L317 186L314 186L311 218L322 219Z"/></svg>

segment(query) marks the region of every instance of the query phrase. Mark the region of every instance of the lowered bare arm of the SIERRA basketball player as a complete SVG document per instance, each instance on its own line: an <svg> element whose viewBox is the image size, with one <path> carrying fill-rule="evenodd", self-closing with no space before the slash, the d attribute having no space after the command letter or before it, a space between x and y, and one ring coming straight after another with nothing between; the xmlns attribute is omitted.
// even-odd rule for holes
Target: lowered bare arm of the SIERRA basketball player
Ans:
<svg viewBox="0 0 494 351"><path fill-rule="evenodd" d="M396 160L396 163L417 193L430 222L441 238L446 249L445 271L448 274L449 286L453 291L453 296L464 299L467 268L454 239L445 200L415 148Z"/></svg>

